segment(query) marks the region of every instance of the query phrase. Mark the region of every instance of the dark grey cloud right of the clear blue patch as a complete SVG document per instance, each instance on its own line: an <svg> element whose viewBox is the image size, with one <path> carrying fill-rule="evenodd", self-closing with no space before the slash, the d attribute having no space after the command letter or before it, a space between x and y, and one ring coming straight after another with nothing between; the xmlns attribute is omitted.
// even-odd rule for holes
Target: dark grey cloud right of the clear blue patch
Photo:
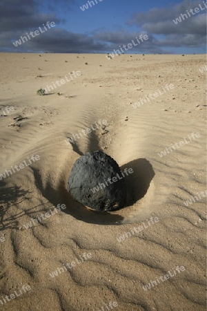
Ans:
<svg viewBox="0 0 207 311"><path fill-rule="evenodd" d="M206 44L206 9L200 10L201 14L190 13L190 17L187 15L180 23L175 24L173 20L186 10L199 8L199 4L205 8L201 0L184 0L171 8L152 8L133 14L126 23L153 35L164 35L164 39L159 39L160 46L197 48Z"/></svg>

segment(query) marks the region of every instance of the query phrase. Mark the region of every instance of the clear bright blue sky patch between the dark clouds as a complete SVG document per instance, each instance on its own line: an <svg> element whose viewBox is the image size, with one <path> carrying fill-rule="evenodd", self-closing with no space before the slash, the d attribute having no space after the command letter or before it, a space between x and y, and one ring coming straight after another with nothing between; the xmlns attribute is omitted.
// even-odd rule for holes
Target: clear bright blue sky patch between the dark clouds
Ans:
<svg viewBox="0 0 207 311"><path fill-rule="evenodd" d="M168 1L139 1L139 0L103 0L98 4L88 8L86 11L82 11L79 7L86 4L87 1L79 0L79 6L73 6L72 12L68 11L64 13L63 18L66 19L66 26L74 32L92 32L95 29L126 29L128 31L137 30L137 27L125 25L126 21L130 18L130 15L134 12L146 12L150 8L162 8L166 6ZM173 1L173 3L179 3L180 1ZM170 2L167 5L170 7ZM62 14L62 12L61 12Z"/></svg>

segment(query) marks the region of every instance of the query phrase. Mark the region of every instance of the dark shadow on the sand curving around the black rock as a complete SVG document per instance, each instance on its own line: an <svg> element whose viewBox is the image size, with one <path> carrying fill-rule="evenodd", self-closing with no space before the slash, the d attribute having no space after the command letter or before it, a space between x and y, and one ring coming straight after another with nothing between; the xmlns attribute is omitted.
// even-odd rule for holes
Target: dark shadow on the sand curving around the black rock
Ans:
<svg viewBox="0 0 207 311"><path fill-rule="evenodd" d="M132 168L133 173L125 178L128 193L126 204L122 209L143 198L150 187L152 178L155 176L152 165L146 159L133 160L122 166L121 170L124 171L125 168ZM35 184L41 191L42 195L51 202L52 205L57 206L58 204L65 204L67 208L63 212L70 214L77 220L97 225L119 225L121 220L124 220L124 217L121 215L113 214L113 212L101 213L94 211L75 201L66 189L67 180L60 180L57 189L53 189L49 182L46 187L43 187L41 174L37 169L34 169L34 167L32 170L34 172Z"/></svg>

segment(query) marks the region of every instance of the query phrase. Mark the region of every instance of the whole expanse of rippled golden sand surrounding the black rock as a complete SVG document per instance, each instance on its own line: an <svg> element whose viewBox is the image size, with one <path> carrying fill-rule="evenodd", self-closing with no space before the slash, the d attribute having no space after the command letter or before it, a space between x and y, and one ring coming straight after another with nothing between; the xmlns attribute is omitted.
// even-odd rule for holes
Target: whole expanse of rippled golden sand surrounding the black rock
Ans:
<svg viewBox="0 0 207 311"><path fill-rule="evenodd" d="M206 310L205 55L0 56L0 108L14 107L0 118L0 174L39 156L0 180L0 310ZM81 75L37 95L73 70ZM105 129L66 143L99 120ZM133 169L124 209L98 214L66 191L75 160L96 150Z"/></svg>

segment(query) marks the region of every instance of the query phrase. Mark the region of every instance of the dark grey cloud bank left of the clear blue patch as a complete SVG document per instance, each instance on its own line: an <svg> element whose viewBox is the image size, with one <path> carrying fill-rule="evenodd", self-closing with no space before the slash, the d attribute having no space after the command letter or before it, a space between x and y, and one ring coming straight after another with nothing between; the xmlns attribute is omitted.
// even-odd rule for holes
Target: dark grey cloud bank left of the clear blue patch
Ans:
<svg viewBox="0 0 207 311"><path fill-rule="evenodd" d="M74 4L72 0L62 0L67 8ZM50 1L51 8L55 8L57 0ZM54 5L54 7L53 7ZM0 10L0 40L1 51L14 52L38 52L48 51L51 53L84 53L99 51L106 46L95 41L92 37L81 34L73 34L61 28L52 28L37 37L31 37L15 47L12 42L26 36L26 32L38 30L47 21L54 21L56 25L63 22L54 13L43 14L40 12L41 1L39 0L3 0ZM42 27L43 28L43 27Z"/></svg>

